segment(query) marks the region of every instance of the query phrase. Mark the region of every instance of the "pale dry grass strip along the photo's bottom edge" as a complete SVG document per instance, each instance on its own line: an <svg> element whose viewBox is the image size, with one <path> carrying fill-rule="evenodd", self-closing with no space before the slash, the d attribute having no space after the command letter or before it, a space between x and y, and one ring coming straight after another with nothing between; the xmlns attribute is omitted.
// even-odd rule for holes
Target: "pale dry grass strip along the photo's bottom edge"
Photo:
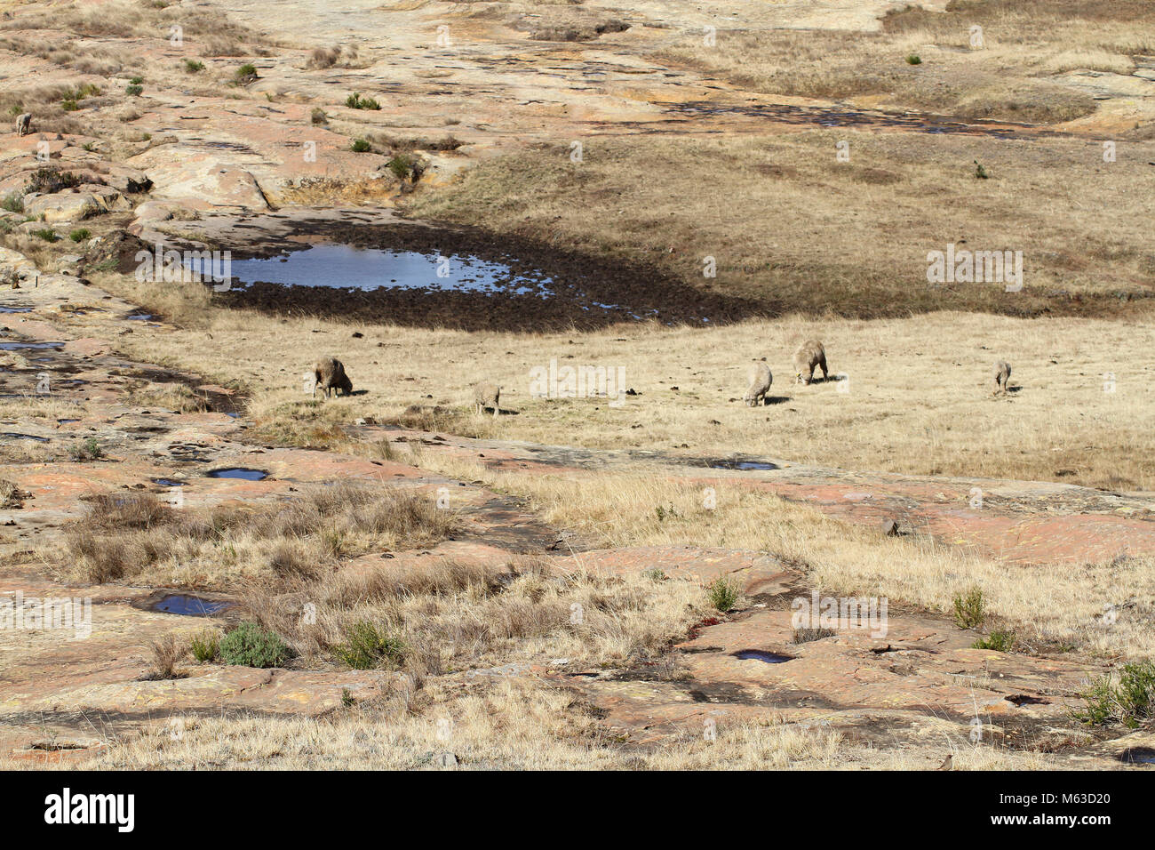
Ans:
<svg viewBox="0 0 1155 850"><path fill-rule="evenodd" d="M395 700L321 719L185 717L179 734L157 723L77 767L431 770L449 753L462 770L833 769L848 749L832 730L773 720L720 720L713 741L686 734L655 749L625 747L571 694L521 679L468 689L431 685L416 697L415 710L398 709Z"/></svg>

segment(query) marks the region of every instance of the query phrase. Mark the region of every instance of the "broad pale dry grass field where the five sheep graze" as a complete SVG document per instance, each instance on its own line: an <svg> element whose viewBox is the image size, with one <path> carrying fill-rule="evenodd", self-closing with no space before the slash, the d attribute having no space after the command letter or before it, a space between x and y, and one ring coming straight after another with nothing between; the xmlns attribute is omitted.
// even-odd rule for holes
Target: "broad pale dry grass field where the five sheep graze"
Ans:
<svg viewBox="0 0 1155 850"><path fill-rule="evenodd" d="M116 280L106 286L120 289ZM198 316L202 327L137 333L121 345L141 360L240 382L252 391L249 412L260 433L286 444L340 446L344 437L335 426L372 416L465 436L687 458L740 453L844 470L1155 487L1155 445L1147 434L1155 382L1152 365L1133 354L1155 345L1155 332L1138 319L939 313L877 321L787 318L709 330L632 325L471 334L243 311ZM353 327L366 331L365 338L350 339ZM824 340L832 372L845 382L790 383L791 354L812 337ZM303 345L337 354L367 394L310 399L300 374L312 361L285 364L283 356ZM228 375L218 371L222 347L230 352ZM745 367L760 356L774 374L775 404L746 408ZM625 385L642 394L623 407L604 398L530 398L531 370L547 368L551 359L621 368ZM991 394L990 369L999 359L1013 368L1006 398ZM480 362L484 374L447 368ZM1109 374L1115 392L1104 391ZM502 408L519 415L471 415L469 386L480 378L502 384ZM688 448L676 448L683 443Z"/></svg>

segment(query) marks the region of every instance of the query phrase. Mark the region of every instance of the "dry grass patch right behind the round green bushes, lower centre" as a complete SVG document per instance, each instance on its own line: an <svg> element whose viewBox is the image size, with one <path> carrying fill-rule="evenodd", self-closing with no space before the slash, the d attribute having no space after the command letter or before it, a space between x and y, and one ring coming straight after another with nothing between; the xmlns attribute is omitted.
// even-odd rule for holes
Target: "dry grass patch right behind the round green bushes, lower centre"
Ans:
<svg viewBox="0 0 1155 850"><path fill-rule="evenodd" d="M315 622L301 616L313 603ZM357 666L415 675L508 664L627 665L661 657L707 609L693 582L560 574L520 559L502 570L430 559L408 569L358 566L303 582L291 593L249 593L246 605L310 663L335 653L368 623L395 646Z"/></svg>

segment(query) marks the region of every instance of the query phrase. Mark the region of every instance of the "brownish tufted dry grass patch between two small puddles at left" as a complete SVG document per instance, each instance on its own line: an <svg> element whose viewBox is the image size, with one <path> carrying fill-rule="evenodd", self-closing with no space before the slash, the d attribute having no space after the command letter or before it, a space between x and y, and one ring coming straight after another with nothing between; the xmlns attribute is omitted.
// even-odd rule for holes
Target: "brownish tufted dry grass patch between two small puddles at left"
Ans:
<svg viewBox="0 0 1155 850"><path fill-rule="evenodd" d="M226 590L244 581L314 577L342 557L435 542L455 527L433 500L335 482L304 497L238 508L176 509L149 494L110 494L67 530L62 574ZM53 553L45 560L54 562Z"/></svg>

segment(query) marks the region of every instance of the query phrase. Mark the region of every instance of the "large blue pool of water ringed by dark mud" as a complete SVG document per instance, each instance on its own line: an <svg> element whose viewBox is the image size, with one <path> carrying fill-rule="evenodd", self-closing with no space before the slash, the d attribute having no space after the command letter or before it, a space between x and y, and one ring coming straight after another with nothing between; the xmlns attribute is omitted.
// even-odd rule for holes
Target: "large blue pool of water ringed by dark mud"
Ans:
<svg viewBox="0 0 1155 850"><path fill-rule="evenodd" d="M189 258L188 268L211 278L210 260ZM280 257L232 260L230 273L240 287L251 283L328 287L334 289L419 289L506 295L538 295L553 291L547 275L514 272L504 263L491 263L468 254L420 253L363 249L352 245L313 245ZM234 284L236 286L236 284Z"/></svg>

